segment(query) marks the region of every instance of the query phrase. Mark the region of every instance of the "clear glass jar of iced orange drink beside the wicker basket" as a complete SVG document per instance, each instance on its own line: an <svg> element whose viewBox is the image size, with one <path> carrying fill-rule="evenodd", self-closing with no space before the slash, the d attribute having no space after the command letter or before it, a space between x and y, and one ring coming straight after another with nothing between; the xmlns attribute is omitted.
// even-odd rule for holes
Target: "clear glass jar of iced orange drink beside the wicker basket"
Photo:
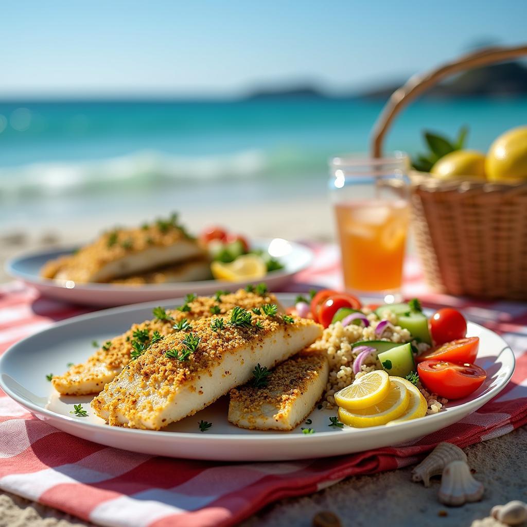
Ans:
<svg viewBox="0 0 527 527"><path fill-rule="evenodd" d="M410 216L408 167L402 152L330 160L329 189L349 291L399 296Z"/></svg>

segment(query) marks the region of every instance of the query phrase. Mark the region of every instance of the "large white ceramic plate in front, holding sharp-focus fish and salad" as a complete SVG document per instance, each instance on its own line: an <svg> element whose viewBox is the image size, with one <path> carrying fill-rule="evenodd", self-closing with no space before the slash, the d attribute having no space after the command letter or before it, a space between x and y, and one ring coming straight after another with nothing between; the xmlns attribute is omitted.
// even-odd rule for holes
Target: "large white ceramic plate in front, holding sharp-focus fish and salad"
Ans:
<svg viewBox="0 0 527 527"><path fill-rule="evenodd" d="M285 305L294 295L278 295ZM181 299L169 303L181 305ZM509 382L514 355L505 341L477 324L469 323L469 336L479 336L476 364L487 372L481 388L466 399L449 403L446 410L393 426L372 428L329 428L335 411L314 409L309 426L315 434L302 434L300 426L291 432L259 432L237 428L227 421L227 397L198 414L174 423L163 431L133 430L108 426L92 415L92 397L59 397L46 374L63 372L69 362L81 362L92 352L92 340L105 341L150 318L155 304L108 309L55 324L15 344L0 358L0 386L36 417L84 439L146 454L221 461L277 461L361 452L370 448L411 441L440 430L489 401ZM82 403L89 417L70 414L73 404ZM200 419L213 423L200 432ZM306 426L306 425L301 425Z"/></svg>

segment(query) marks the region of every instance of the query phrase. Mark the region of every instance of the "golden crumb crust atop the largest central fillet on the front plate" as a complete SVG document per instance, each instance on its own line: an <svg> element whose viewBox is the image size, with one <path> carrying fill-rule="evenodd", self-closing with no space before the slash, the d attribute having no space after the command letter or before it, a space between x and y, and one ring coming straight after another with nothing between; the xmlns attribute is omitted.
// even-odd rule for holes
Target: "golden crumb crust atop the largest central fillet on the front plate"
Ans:
<svg viewBox="0 0 527 527"><path fill-rule="evenodd" d="M110 425L123 426L119 420L121 414L128 419L124 426L144 428L142 415L159 414L163 406L174 401L180 388L189 386L193 380L204 377L207 382L226 354L251 353L263 348L265 339L282 328L284 338L290 338L302 327L314 325L311 320L281 314L252 313L248 327L237 327L229 323L231 313L195 320L190 330L177 331L150 346L93 399L94 411L99 415L107 412ZM218 331L213 329L215 319L224 322L224 327ZM197 348L184 360L175 358L174 353L179 355L186 348L189 336L199 339ZM136 387L133 391L129 389L131 385Z"/></svg>

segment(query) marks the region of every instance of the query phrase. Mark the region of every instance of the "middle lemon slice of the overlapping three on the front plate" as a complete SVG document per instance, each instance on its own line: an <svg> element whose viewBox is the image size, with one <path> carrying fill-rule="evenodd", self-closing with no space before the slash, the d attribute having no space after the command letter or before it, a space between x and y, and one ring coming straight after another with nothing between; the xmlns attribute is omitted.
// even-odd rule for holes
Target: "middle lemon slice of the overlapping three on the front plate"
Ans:
<svg viewBox="0 0 527 527"><path fill-rule="evenodd" d="M410 401L409 390L400 380L398 377L390 378L388 395L379 403L354 411L339 408L338 418L346 425L366 428L385 425L388 421L400 417L408 408Z"/></svg>

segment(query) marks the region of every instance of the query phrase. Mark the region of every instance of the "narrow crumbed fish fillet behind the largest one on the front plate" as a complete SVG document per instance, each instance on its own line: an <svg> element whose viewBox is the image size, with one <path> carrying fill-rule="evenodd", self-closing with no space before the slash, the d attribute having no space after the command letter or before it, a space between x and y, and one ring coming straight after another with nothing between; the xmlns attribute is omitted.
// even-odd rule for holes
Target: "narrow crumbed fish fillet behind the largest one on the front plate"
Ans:
<svg viewBox="0 0 527 527"><path fill-rule="evenodd" d="M189 323L214 314L225 314L235 306L245 309L262 305L277 305L283 311L275 295L257 286L254 292L240 289L235 293L217 293L214 297L187 297L179 309L154 310L152 320L134 324L128 331L115 337L98 349L85 363L73 365L64 375L53 377L52 384L64 395L99 393L129 362L131 354L140 353L159 336L174 333L174 326Z"/></svg>

